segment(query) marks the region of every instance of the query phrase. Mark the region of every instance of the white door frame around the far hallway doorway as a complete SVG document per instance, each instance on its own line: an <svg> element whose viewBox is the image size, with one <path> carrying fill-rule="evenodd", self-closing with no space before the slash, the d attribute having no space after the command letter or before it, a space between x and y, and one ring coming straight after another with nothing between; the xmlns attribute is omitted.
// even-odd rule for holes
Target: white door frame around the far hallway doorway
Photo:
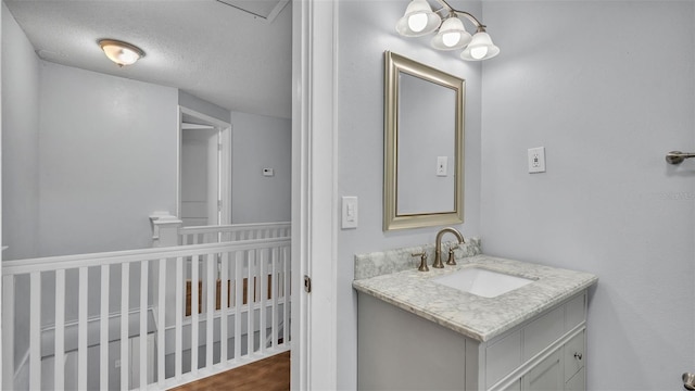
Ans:
<svg viewBox="0 0 695 391"><path fill-rule="evenodd" d="M219 225L231 224L231 124L186 106L178 106L178 131L176 134L176 216L181 218L181 142L184 138L184 114L212 124L219 131L219 161L217 198L222 201Z"/></svg>

